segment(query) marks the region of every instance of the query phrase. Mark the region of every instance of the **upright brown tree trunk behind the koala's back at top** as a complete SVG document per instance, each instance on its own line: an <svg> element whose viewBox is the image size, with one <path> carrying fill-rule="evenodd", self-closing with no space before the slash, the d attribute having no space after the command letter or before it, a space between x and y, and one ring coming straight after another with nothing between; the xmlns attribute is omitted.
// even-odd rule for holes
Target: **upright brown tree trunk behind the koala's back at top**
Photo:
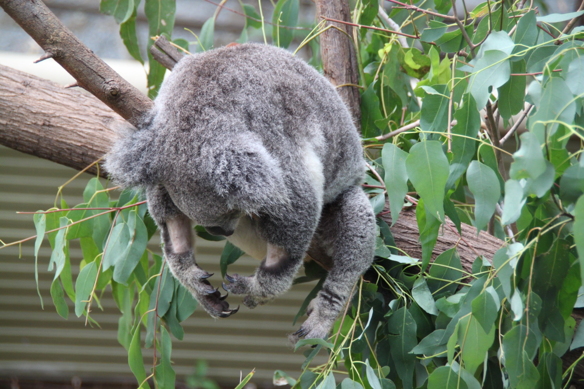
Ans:
<svg viewBox="0 0 584 389"><path fill-rule="evenodd" d="M348 1L317 0L317 20L321 16L326 18L351 21L351 10ZM357 70L357 56L353 42L353 27L341 23L329 22L345 31L349 36L337 29L331 28L320 35L322 70L332 85L354 84L359 85L359 71ZM356 86L341 86L339 95L349 107L357 128L361 124L361 95Z"/></svg>

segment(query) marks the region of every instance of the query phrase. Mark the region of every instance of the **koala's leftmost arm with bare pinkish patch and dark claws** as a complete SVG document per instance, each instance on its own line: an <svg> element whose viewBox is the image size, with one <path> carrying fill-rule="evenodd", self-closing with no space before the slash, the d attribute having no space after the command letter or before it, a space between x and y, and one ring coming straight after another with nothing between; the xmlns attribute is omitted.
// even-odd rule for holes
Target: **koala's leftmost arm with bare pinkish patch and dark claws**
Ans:
<svg viewBox="0 0 584 389"><path fill-rule="evenodd" d="M172 202L164 187L149 187L146 193L148 210L161 230L166 263L175 279L193 294L199 304L213 317L229 317L231 310L225 297L211 286L211 275L194 261L192 225Z"/></svg>

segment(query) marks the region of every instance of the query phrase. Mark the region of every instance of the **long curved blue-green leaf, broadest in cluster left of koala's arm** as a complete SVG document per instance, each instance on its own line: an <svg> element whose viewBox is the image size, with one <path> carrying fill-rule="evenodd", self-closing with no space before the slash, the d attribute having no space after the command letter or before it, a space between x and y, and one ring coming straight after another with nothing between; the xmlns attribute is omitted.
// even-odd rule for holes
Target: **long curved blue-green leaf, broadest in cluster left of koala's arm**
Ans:
<svg viewBox="0 0 584 389"><path fill-rule="evenodd" d="M115 262L113 279L120 284L126 284L128 278L134 271L148 243L148 231L142 219L137 215L136 210L131 210L128 214L128 243L120 258Z"/></svg>

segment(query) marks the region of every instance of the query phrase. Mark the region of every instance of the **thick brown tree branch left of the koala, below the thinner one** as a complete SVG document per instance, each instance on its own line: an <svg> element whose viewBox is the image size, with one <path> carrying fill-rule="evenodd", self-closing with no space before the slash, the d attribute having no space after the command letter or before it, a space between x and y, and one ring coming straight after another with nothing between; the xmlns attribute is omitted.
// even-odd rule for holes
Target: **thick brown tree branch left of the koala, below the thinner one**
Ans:
<svg viewBox="0 0 584 389"><path fill-rule="evenodd" d="M0 65L0 144L80 170L105 154L116 123L94 96Z"/></svg>

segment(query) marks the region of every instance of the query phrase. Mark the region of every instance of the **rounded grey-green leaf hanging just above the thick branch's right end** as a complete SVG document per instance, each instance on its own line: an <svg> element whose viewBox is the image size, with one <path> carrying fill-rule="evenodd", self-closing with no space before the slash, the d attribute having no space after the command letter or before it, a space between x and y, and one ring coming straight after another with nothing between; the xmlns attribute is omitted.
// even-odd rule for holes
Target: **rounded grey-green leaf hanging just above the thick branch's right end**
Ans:
<svg viewBox="0 0 584 389"><path fill-rule="evenodd" d="M475 225L477 235L486 227L495 213L495 206L501 196L499 179L493 169L472 161L467 171L468 189L475 197Z"/></svg>

